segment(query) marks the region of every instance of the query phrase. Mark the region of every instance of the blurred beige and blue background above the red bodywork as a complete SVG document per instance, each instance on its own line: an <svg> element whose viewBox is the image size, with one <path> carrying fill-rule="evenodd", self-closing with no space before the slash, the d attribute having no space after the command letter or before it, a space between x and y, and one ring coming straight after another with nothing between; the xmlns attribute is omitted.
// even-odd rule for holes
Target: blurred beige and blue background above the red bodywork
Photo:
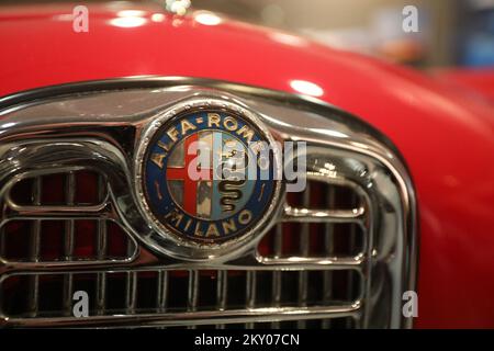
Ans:
<svg viewBox="0 0 494 351"><path fill-rule="evenodd" d="M418 68L494 66L494 0L191 2L195 9L285 30L323 44ZM402 11L406 5L418 10L417 33L402 30Z"/></svg>

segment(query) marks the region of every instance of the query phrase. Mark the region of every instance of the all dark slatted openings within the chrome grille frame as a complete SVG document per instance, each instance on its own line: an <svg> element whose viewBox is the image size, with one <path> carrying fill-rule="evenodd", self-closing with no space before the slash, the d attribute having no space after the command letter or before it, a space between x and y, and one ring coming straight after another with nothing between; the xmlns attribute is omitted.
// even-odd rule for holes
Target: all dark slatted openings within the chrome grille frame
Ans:
<svg viewBox="0 0 494 351"><path fill-rule="evenodd" d="M99 206L105 194L104 177L78 171L36 178L16 183L8 201L14 208L36 206ZM353 211L361 201L349 188L310 181L303 193L290 193L288 206L308 210ZM29 217L29 216L27 216ZM323 259L338 254L362 254L363 231L351 222L338 224L278 224L258 246L262 260ZM77 263L111 264L136 253L136 245L117 224L101 219L68 217L60 220L40 215L7 222L0 228L1 257L16 264ZM166 315L170 325L206 327L304 328L358 326L362 275L357 270L127 270L112 272L16 272L1 282L1 312L21 325L27 318L43 319L72 315L72 294L85 291L90 316L125 314ZM262 312L270 307L293 312L293 317L272 320ZM335 312L333 312L335 309ZM341 309L340 313L337 313ZM307 319L301 316L305 312ZM207 313L218 320L245 316L245 324L211 325ZM251 316L250 316L251 315ZM317 316L326 318L317 318ZM187 317L186 317L187 316ZM214 318L211 318L214 319ZM274 318L276 319L276 318ZM333 320L335 319L335 320ZM266 321L265 321L266 320ZM265 321L265 322L261 322Z"/></svg>

